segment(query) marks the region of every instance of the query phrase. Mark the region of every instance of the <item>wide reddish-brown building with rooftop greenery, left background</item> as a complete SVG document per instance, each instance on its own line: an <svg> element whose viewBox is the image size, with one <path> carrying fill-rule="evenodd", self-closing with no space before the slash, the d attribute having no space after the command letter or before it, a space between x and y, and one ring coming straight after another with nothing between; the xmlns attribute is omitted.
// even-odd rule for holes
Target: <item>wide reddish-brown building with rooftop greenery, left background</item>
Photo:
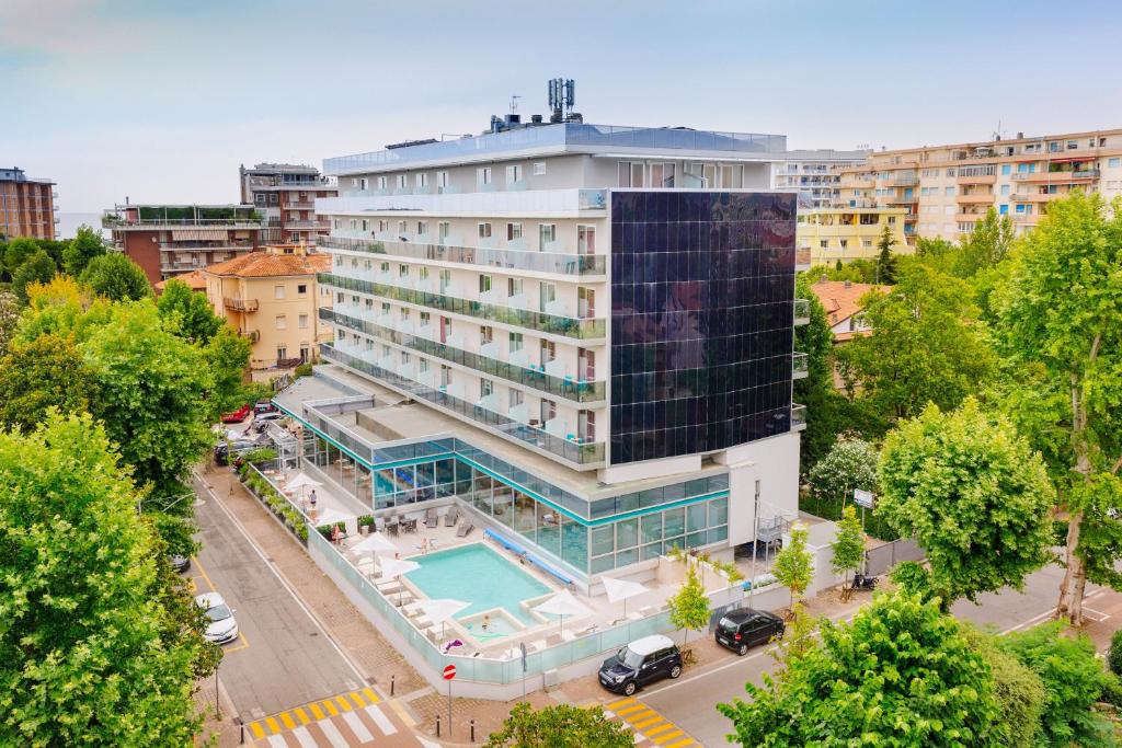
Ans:
<svg viewBox="0 0 1122 748"><path fill-rule="evenodd" d="M160 280L223 262L263 243L261 214L252 205L114 205L101 218L112 246Z"/></svg>

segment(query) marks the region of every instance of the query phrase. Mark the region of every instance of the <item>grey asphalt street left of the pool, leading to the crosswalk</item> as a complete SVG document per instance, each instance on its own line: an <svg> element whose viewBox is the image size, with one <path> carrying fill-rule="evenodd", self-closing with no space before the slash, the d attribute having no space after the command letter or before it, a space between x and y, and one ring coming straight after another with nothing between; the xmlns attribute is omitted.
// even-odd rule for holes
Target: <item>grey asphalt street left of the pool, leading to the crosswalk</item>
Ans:
<svg viewBox="0 0 1122 748"><path fill-rule="evenodd" d="M188 574L237 611L241 637L227 645L219 677L242 720L365 687L221 504L194 488L202 550Z"/></svg>

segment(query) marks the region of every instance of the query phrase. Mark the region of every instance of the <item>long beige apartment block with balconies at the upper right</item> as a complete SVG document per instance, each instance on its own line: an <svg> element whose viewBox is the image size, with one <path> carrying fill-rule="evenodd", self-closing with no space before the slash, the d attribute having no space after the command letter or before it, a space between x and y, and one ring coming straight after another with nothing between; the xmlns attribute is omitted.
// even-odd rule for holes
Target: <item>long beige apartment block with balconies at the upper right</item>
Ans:
<svg viewBox="0 0 1122 748"><path fill-rule="evenodd" d="M843 204L905 207L909 240L957 240L990 207L1023 232L1075 190L1122 193L1122 130L883 150L842 170Z"/></svg>

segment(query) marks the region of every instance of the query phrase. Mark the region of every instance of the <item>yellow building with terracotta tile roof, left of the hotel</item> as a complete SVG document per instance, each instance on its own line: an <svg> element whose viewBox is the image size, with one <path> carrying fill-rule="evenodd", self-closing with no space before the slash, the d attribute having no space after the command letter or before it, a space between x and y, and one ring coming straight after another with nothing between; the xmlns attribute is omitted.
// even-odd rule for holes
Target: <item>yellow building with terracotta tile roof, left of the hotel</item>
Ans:
<svg viewBox="0 0 1122 748"><path fill-rule="evenodd" d="M266 247L203 269L214 312L254 344L251 369L314 361L319 343L333 336L318 312L331 307L331 294L315 280L316 273L330 268L331 258L309 249Z"/></svg>

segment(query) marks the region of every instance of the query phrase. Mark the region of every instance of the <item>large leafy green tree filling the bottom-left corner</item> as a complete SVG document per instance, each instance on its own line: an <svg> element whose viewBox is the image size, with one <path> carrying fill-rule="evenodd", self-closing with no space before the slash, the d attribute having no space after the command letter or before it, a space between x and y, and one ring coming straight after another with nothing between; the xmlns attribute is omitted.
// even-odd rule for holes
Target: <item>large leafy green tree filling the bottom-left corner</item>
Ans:
<svg viewBox="0 0 1122 748"><path fill-rule="evenodd" d="M0 432L4 742L182 746L199 732L193 692L213 647L182 583L165 587L135 501L89 415Z"/></svg>

